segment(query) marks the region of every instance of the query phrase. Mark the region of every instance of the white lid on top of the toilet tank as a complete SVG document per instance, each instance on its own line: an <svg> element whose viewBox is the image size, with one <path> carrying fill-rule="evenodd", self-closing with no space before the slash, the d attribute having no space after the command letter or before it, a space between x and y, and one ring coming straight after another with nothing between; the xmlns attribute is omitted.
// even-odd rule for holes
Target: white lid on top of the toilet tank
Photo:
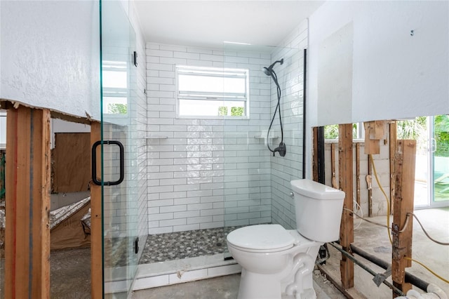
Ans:
<svg viewBox="0 0 449 299"><path fill-rule="evenodd" d="M314 199L344 199L344 192L313 180L292 180L293 192Z"/></svg>

